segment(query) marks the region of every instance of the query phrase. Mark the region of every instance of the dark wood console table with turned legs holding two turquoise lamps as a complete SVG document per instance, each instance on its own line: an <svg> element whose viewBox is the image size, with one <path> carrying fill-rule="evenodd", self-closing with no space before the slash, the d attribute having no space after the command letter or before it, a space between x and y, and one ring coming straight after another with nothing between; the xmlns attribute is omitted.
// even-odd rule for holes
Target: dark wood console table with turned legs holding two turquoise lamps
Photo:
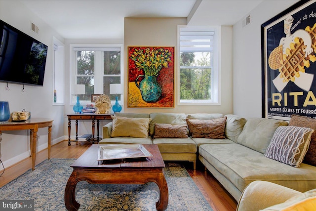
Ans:
<svg viewBox="0 0 316 211"><path fill-rule="evenodd" d="M95 142L99 141L99 128L100 128L100 120L112 120L111 115L114 114L66 114L68 116L68 146L70 146L71 142L78 141L78 120L91 120L92 121L92 138L89 141ZM70 129L71 129L71 121L76 120L76 140L70 140ZM95 120L97 121L97 137L94 138L94 128L95 128Z"/></svg>

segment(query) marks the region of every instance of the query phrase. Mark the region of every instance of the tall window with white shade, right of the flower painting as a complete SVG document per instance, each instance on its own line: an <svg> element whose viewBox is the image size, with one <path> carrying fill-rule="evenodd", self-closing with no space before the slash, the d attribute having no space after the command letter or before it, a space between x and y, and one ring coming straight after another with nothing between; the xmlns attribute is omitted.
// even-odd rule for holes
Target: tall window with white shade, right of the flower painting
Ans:
<svg viewBox="0 0 316 211"><path fill-rule="evenodd" d="M219 31L178 27L179 105L220 105Z"/></svg>

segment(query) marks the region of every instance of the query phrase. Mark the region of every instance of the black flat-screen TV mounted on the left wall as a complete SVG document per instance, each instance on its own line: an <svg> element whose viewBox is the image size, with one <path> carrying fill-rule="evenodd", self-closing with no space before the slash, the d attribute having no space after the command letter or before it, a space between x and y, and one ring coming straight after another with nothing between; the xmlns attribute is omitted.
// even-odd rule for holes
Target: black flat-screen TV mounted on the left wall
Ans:
<svg viewBox="0 0 316 211"><path fill-rule="evenodd" d="M47 45L0 20L0 82L43 85Z"/></svg>

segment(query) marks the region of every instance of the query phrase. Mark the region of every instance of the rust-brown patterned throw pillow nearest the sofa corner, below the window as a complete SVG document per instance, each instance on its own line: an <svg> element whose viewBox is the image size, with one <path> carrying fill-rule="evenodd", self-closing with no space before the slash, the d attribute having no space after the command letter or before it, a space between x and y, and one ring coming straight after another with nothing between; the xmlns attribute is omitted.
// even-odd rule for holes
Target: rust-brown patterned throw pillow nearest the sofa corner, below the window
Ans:
<svg viewBox="0 0 316 211"><path fill-rule="evenodd" d="M193 138L226 138L227 117L212 120L186 119Z"/></svg>

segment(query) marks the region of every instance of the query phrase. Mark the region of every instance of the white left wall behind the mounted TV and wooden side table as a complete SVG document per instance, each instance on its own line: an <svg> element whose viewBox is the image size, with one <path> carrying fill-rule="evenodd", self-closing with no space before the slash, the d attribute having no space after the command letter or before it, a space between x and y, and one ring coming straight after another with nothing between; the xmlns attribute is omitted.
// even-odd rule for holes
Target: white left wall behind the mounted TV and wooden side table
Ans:
<svg viewBox="0 0 316 211"><path fill-rule="evenodd" d="M8 101L10 112L31 112L32 117L45 117L53 119L52 140L53 143L64 139L64 106L53 106L53 36L63 42L63 38L32 13L20 1L0 1L0 19L29 36L43 42L48 46L44 85L24 85L24 92L20 84L8 84L10 90L6 90L6 83L0 83L0 101ZM39 29L39 34L31 31L31 22ZM47 127L40 128L38 135L37 151L47 148ZM30 131L2 131L1 160L4 168L19 162L30 155Z"/></svg>

